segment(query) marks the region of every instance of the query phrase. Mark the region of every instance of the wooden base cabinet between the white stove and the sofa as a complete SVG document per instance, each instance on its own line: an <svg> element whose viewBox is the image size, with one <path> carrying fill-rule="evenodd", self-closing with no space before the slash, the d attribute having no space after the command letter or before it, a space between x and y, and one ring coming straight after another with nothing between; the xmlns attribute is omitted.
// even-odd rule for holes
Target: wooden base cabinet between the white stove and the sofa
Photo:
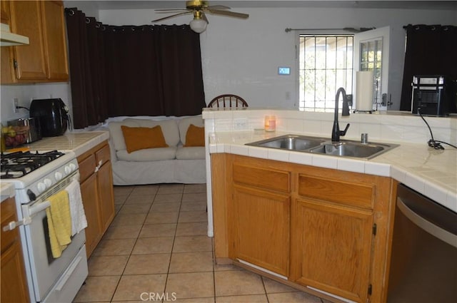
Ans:
<svg viewBox="0 0 457 303"><path fill-rule="evenodd" d="M86 212L87 257L114 219L113 175L109 145L105 141L78 157L81 196Z"/></svg>

